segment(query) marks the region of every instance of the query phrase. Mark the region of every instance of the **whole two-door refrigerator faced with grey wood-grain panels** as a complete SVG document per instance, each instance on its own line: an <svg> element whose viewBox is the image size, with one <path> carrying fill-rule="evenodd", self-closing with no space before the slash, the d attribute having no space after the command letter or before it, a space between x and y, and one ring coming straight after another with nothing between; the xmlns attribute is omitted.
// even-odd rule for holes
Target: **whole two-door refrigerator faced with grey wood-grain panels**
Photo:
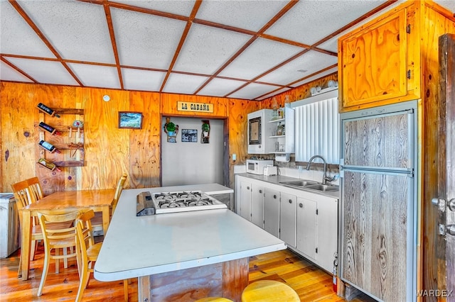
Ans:
<svg viewBox="0 0 455 302"><path fill-rule="evenodd" d="M417 101L341 113L341 279L416 300Z"/></svg>

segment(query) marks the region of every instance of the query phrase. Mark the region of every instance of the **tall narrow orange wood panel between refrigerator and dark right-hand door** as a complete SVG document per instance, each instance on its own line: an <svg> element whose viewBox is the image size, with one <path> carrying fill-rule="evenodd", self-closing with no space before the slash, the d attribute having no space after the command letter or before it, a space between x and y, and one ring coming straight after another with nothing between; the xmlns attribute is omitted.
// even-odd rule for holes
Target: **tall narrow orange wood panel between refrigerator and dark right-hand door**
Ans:
<svg viewBox="0 0 455 302"><path fill-rule="evenodd" d="M421 4L422 16L419 21L422 23L421 52L422 57L426 57L422 68L426 71L422 77L423 92L422 99L424 104L423 128L424 133L424 154L422 156L422 216L423 216L423 288L437 289L437 211L432 206L432 198L437 196L437 162L438 162L438 83L439 83L439 36L444 33L455 33L454 17L444 17L429 3ZM434 298L434 301L436 298Z"/></svg>

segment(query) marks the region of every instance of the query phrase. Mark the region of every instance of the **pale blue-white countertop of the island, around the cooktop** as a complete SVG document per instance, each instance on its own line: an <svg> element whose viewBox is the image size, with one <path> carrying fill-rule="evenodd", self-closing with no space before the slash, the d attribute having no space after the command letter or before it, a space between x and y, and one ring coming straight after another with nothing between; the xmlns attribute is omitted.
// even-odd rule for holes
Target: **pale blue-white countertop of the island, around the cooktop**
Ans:
<svg viewBox="0 0 455 302"><path fill-rule="evenodd" d="M232 193L220 184L125 189L112 217L95 278L114 281L284 250L282 240L228 209L136 216L143 191Z"/></svg>

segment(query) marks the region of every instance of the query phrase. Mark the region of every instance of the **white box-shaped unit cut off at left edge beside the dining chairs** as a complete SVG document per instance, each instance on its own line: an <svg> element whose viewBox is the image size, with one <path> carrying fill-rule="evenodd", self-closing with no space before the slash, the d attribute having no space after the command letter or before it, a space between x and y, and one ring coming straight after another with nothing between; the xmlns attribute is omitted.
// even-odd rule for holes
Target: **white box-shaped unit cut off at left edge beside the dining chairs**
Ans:
<svg viewBox="0 0 455 302"><path fill-rule="evenodd" d="M19 216L16 199L11 193L0 193L0 258L6 258L20 245Z"/></svg>

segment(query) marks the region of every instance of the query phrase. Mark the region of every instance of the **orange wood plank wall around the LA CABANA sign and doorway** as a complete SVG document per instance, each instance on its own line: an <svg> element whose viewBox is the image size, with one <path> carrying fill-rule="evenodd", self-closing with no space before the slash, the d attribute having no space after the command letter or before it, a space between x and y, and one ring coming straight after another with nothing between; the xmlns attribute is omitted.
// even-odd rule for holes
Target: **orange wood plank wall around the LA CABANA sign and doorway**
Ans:
<svg viewBox="0 0 455 302"><path fill-rule="evenodd" d="M311 84L304 84L277 96L284 106L284 96L290 101L310 96L312 86L326 87L328 75ZM116 186L124 172L128 173L127 188L159 186L161 184L162 116L188 116L225 119L228 129L229 186L234 186L234 164L245 164L247 157L247 113L261 108L272 108L272 99L247 101L183 94L159 94L144 91L120 91L74 86L43 84L0 83L0 189L11 191L11 184L38 176L45 194L75 189L105 189ZM110 96L105 102L102 96ZM178 101L213 104L213 113L178 111ZM40 113L38 103L51 108L82 108L84 116L65 115L51 118ZM138 111L144 114L141 130L118 128L118 111ZM75 119L84 121L85 164L83 167L63 167L61 172L50 172L36 164L42 155L38 148L38 123L45 121L59 128L71 125ZM41 134L42 135L42 134ZM74 136L74 135L73 135ZM61 137L46 135L53 142L68 143L68 133ZM232 154L237 160L232 161ZM6 156L8 155L8 156ZM48 159L77 160L69 151L63 155L45 154ZM60 156L60 157L59 157ZM24 160L25 159L25 160Z"/></svg>

